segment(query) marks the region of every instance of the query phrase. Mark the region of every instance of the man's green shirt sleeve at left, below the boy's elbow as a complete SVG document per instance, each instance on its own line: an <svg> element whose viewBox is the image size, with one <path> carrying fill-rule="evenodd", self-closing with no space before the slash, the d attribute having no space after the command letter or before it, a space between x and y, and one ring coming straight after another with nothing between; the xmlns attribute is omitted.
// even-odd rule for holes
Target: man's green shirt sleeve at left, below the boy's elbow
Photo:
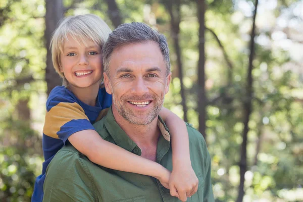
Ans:
<svg viewBox="0 0 303 202"><path fill-rule="evenodd" d="M79 154L60 150L46 170L43 202L97 201L85 169Z"/></svg>

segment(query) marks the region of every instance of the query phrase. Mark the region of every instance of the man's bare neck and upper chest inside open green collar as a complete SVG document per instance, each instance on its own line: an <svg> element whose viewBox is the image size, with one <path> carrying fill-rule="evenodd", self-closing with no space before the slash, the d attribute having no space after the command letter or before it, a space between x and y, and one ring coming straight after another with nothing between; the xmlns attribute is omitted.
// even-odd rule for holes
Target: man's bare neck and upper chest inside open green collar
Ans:
<svg viewBox="0 0 303 202"><path fill-rule="evenodd" d="M161 133L157 123L158 118L154 119L147 125L132 124L124 119L117 111L116 107L112 106L113 115L118 125L124 130L124 132L131 138L142 150L142 157L156 160L158 138ZM153 153L154 157L150 157L150 153Z"/></svg>

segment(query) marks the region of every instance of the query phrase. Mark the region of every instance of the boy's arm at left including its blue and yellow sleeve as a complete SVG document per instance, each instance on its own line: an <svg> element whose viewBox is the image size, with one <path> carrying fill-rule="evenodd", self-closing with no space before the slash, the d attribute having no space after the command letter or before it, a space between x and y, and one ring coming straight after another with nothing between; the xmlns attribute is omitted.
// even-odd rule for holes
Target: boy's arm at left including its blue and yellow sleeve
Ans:
<svg viewBox="0 0 303 202"><path fill-rule="evenodd" d="M46 103L43 133L67 140L90 161L110 169L156 177L168 188L170 172L160 164L132 154L102 139L82 107L71 97L57 96Z"/></svg>

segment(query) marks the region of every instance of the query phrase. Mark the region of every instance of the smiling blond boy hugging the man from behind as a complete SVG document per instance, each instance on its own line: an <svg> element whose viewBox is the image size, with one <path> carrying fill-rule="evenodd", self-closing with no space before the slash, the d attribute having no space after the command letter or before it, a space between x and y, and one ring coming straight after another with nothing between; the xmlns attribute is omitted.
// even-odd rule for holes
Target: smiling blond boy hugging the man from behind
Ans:
<svg viewBox="0 0 303 202"><path fill-rule="evenodd" d="M170 188L171 195L185 201L197 190L198 180L191 168L185 123L167 109L160 113L172 137L173 171L132 154L102 139L92 124L112 105L102 80L102 46L111 33L95 15L65 18L54 32L53 64L64 86L55 87L46 102L43 128L42 175L38 176L32 201L42 201L47 165L64 144L71 143L95 164L110 169L149 175Z"/></svg>

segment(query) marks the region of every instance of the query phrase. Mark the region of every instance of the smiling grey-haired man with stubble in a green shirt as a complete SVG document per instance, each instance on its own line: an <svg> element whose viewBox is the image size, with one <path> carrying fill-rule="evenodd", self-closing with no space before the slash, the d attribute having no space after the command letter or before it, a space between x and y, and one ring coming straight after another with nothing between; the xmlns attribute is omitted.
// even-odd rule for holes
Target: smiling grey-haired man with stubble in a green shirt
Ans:
<svg viewBox="0 0 303 202"><path fill-rule="evenodd" d="M94 124L99 135L172 170L167 127L159 117L171 80L165 37L143 23L119 26L104 45L104 79L113 105ZM203 136L187 124L198 190L187 201L214 201L211 159ZM113 159L115 161L115 159ZM107 169L72 145L49 164L43 201L179 201L155 178Z"/></svg>

